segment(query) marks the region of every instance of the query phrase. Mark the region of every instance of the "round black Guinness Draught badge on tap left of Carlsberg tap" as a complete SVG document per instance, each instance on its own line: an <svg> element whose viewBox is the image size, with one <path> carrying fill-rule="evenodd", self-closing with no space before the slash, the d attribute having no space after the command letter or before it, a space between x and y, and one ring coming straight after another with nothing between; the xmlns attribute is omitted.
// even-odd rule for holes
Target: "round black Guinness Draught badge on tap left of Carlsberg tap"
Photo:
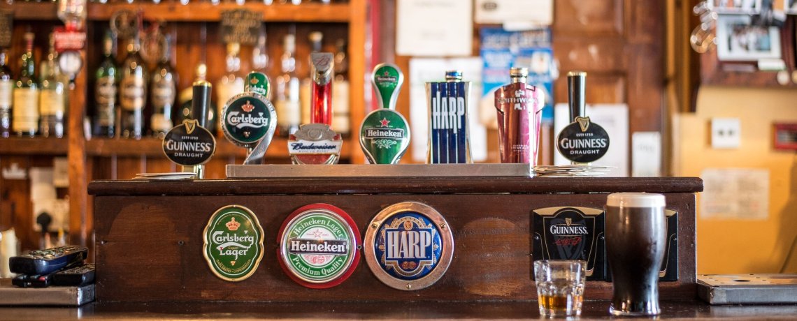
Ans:
<svg viewBox="0 0 797 321"><path fill-rule="evenodd" d="M216 151L216 138L196 119L186 119L163 137L163 153L176 164L205 164Z"/></svg>

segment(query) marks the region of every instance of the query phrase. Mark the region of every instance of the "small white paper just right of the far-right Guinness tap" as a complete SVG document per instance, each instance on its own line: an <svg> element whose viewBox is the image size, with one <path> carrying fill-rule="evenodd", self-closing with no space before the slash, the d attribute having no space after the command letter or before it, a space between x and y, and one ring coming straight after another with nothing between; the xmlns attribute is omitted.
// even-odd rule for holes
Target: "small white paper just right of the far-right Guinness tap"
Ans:
<svg viewBox="0 0 797 321"><path fill-rule="evenodd" d="M631 136L631 176L662 175L662 134L636 132Z"/></svg>

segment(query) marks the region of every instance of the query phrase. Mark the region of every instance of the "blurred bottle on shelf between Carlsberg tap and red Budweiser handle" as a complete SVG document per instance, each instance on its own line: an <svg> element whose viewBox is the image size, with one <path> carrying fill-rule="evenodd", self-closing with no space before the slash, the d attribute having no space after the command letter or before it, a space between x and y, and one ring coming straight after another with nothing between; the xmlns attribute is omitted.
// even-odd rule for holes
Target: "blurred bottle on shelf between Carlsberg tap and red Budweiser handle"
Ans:
<svg viewBox="0 0 797 321"><path fill-rule="evenodd" d="M285 52L282 54L282 75L277 77L277 133L281 137L299 129L301 118L299 79L296 78L296 36L285 35Z"/></svg>

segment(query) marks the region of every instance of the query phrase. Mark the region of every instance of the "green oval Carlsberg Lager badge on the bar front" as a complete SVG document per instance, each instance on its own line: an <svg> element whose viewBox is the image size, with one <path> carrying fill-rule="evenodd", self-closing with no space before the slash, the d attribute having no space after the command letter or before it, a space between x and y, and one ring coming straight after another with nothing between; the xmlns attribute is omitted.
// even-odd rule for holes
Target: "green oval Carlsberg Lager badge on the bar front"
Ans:
<svg viewBox="0 0 797 321"><path fill-rule="evenodd" d="M263 228L246 207L219 208L210 216L202 238L210 271L222 280L246 280L263 258Z"/></svg>

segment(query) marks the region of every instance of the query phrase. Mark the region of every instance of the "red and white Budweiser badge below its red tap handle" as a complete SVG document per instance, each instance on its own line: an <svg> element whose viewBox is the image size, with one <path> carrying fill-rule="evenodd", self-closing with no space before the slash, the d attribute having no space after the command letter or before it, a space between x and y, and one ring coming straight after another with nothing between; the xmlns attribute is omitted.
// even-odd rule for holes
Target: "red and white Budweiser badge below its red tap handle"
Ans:
<svg viewBox="0 0 797 321"><path fill-rule="evenodd" d="M337 164L343 143L327 124L304 124L290 135L288 153L293 164Z"/></svg>

